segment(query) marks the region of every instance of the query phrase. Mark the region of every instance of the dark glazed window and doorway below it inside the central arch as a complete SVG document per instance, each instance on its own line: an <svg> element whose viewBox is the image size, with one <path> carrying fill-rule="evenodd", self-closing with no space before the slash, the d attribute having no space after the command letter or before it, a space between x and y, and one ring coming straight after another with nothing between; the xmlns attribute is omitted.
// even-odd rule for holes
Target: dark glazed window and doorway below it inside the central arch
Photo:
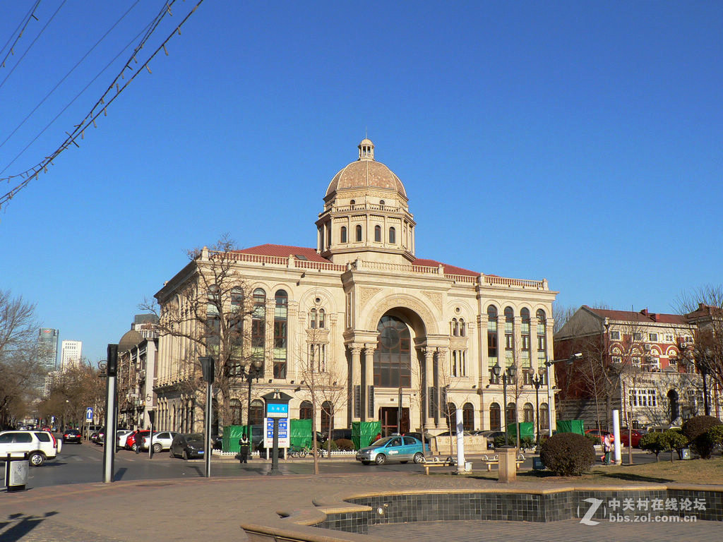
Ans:
<svg viewBox="0 0 723 542"><path fill-rule="evenodd" d="M402 319L385 314L377 325L374 352L375 388L398 390L397 405L380 406L382 435L409 431L409 408L403 406L403 390L411 387L411 332Z"/></svg>

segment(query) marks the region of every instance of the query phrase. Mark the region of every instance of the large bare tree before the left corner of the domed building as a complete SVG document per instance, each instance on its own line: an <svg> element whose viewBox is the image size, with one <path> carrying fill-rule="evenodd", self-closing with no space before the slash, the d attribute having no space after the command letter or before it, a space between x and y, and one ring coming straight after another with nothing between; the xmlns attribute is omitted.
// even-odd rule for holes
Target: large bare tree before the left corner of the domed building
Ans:
<svg viewBox="0 0 723 542"><path fill-rule="evenodd" d="M199 356L215 360L214 390L221 396L220 425L228 425L231 398L240 389L246 371L255 359L268 362L264 329L252 329L254 312L265 312L254 302L244 277L236 272L236 245L228 236L210 249L192 249L191 263L179 273L178 283L157 294L156 302L145 301L140 308L158 316L158 332L181 340L179 387L198 397L202 388Z"/></svg>

